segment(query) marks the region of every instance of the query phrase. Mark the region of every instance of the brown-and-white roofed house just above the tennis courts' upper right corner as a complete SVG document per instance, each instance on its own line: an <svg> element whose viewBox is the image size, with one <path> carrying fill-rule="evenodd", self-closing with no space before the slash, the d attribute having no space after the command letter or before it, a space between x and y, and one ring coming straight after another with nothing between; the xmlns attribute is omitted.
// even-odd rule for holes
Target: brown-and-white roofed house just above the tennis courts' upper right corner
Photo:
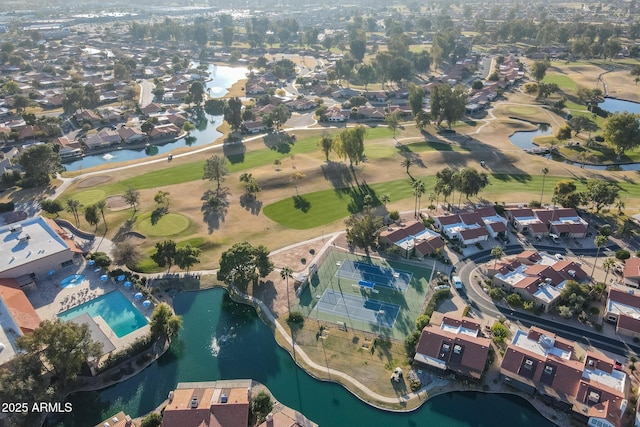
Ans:
<svg viewBox="0 0 640 427"><path fill-rule="evenodd" d="M444 247L442 237L424 226L421 221L411 221L400 227L390 226L378 237L380 244L397 247L405 257L424 258Z"/></svg>

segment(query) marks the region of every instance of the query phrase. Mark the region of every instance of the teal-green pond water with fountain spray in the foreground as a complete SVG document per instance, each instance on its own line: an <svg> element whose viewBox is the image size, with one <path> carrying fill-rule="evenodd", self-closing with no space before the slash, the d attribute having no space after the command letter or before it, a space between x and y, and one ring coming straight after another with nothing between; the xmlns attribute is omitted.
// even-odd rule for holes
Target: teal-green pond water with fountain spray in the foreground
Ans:
<svg viewBox="0 0 640 427"><path fill-rule="evenodd" d="M318 381L298 368L255 310L233 302L223 289L181 294L174 306L183 316L184 329L170 351L125 382L72 395L73 412L50 418L48 425L95 425L121 410L140 416L158 406L179 381L253 378L323 427L553 426L525 399L479 392L437 396L410 413L381 411L342 386Z"/></svg>

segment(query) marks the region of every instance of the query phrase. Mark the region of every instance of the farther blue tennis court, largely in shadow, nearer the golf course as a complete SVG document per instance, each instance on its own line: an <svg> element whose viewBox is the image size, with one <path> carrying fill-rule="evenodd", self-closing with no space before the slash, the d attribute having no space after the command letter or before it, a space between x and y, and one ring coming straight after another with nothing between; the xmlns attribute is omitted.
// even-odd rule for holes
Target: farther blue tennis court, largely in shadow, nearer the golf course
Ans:
<svg viewBox="0 0 640 427"><path fill-rule="evenodd" d="M338 271L336 271L336 276L356 282L369 282L405 292L409 287L409 283L411 283L413 273L345 259L340 264Z"/></svg>

